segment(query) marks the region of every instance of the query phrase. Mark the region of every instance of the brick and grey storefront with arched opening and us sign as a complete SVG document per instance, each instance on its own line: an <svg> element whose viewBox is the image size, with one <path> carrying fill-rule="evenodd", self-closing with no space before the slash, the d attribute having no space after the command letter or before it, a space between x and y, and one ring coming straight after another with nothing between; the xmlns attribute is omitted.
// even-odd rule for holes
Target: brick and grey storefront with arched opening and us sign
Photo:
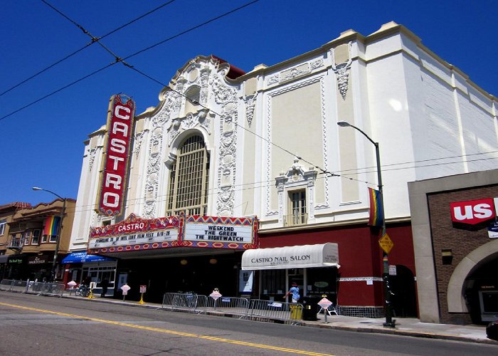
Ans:
<svg viewBox="0 0 498 356"><path fill-rule="evenodd" d="M498 170L409 184L420 320L498 319Z"/></svg>

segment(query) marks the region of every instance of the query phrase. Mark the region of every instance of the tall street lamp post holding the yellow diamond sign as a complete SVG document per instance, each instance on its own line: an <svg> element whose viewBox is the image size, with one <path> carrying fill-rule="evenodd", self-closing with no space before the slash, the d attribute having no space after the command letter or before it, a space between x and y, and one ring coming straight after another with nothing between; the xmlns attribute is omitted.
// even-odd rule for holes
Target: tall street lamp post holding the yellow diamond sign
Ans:
<svg viewBox="0 0 498 356"><path fill-rule="evenodd" d="M378 200L381 206L381 237L386 233L386 216L384 211L384 197L382 192L382 173L381 173L381 155L378 149L378 142L373 141L369 135L359 129L358 127L351 125L346 121L339 121L337 125L341 127L353 127L355 130L361 132L367 140L373 143L375 146L375 155L377 160L377 183L378 183ZM383 323L384 326L388 326L394 328L396 322L393 321L393 310L392 310L392 301L391 301L391 288L389 287L389 259L388 253L386 251L382 251L382 261L383 261L383 271L382 271L382 280L384 285L384 304L386 308L386 322Z"/></svg>

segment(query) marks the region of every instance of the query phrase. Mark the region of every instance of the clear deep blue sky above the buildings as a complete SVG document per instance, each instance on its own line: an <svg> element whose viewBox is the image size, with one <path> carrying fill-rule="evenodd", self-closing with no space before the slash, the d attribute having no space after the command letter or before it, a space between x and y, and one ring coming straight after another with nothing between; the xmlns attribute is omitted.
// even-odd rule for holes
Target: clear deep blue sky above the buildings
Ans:
<svg viewBox="0 0 498 356"><path fill-rule="evenodd" d="M166 0L46 0L93 36L103 36ZM122 58L198 26L250 0L176 0L102 39ZM364 36L396 21L425 46L498 95L498 11L494 0L260 0L127 59L167 84L198 55L214 54L245 71L312 51L350 28ZM0 93L90 42L43 1L4 0L0 11ZM76 198L83 141L105 125L111 95L126 93L137 113L157 105L161 85L122 64L111 66L26 109L11 112L112 63L94 43L33 80L0 95L0 205L53 200L38 186Z"/></svg>

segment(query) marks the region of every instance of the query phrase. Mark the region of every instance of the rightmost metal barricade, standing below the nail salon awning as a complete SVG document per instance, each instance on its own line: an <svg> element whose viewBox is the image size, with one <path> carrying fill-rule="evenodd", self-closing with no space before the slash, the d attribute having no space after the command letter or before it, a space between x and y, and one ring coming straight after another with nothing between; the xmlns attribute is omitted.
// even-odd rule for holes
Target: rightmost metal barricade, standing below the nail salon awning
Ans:
<svg viewBox="0 0 498 356"><path fill-rule="evenodd" d="M300 303L281 303L272 300L251 299L248 318L272 319L290 322L292 324L301 323L303 306Z"/></svg>

